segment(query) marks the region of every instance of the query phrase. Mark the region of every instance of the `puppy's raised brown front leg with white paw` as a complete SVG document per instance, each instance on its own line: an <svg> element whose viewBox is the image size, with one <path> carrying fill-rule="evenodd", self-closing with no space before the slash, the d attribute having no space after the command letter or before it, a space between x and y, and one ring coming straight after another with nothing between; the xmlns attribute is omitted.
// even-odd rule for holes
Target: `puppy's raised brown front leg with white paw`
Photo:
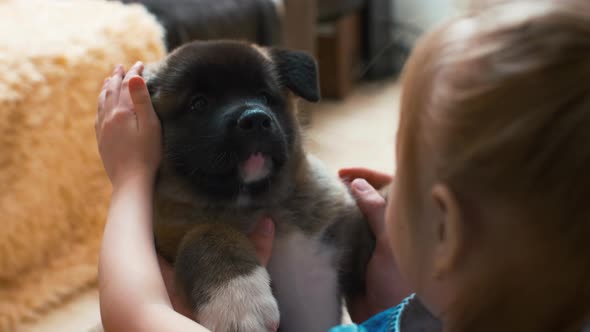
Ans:
<svg viewBox="0 0 590 332"><path fill-rule="evenodd" d="M198 225L176 257L175 282L194 318L215 332L276 331L279 310L266 269L243 234L224 225Z"/></svg>

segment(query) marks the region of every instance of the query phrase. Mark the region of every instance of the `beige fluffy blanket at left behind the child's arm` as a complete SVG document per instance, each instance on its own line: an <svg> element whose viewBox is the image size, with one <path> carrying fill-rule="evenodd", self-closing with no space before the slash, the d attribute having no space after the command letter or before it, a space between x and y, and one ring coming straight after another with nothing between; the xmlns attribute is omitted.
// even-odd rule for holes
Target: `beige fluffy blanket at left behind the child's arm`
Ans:
<svg viewBox="0 0 590 332"><path fill-rule="evenodd" d="M115 64L163 57L162 37L139 6L0 0L0 331L96 282L96 98Z"/></svg>

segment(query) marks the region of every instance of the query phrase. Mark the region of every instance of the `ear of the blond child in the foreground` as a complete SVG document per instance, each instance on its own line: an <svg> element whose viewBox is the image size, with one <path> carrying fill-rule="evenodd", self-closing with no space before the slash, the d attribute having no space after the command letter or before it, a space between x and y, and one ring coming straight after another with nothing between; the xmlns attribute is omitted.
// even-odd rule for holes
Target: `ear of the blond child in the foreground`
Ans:
<svg viewBox="0 0 590 332"><path fill-rule="evenodd" d="M436 243L434 249L434 275L440 277L454 269L462 255L465 244L465 220L457 196L445 184L432 188L436 220Z"/></svg>

